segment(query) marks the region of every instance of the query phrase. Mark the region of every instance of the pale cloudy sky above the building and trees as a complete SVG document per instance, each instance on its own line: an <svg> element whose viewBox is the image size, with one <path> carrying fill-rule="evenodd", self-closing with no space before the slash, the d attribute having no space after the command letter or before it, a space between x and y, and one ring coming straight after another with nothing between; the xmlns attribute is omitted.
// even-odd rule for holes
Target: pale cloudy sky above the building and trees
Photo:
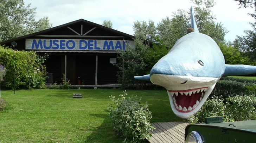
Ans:
<svg viewBox="0 0 256 143"><path fill-rule="evenodd" d="M135 21L153 20L155 26L162 19L172 18L178 9L189 10L195 6L191 0L24 0L25 5L31 3L36 9L36 20L48 16L53 27L78 19L88 20L102 25L104 20L113 23L113 29L133 35ZM234 41L242 36L244 30L252 30L248 22L254 19L248 13L254 9L240 8L238 1L215 0L211 9L216 22L222 23L229 31L226 41Z"/></svg>

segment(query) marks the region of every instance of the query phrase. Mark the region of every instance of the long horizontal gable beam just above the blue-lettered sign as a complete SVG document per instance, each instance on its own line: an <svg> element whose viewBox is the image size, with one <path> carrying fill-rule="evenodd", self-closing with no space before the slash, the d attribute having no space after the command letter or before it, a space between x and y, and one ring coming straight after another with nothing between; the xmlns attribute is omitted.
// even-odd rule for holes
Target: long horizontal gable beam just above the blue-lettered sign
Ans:
<svg viewBox="0 0 256 143"><path fill-rule="evenodd" d="M83 36L83 35L36 35L36 37L71 37L71 38L125 38L124 36Z"/></svg>

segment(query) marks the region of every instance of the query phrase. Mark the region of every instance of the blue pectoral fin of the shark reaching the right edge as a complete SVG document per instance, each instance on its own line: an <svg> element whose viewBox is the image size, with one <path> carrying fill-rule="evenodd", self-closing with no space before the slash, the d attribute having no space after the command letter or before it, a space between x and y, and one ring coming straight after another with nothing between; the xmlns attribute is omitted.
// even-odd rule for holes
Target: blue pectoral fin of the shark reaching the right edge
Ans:
<svg viewBox="0 0 256 143"><path fill-rule="evenodd" d="M225 73L224 76L231 76L231 75L249 75L256 73L256 66L244 65L244 64L225 64Z"/></svg>

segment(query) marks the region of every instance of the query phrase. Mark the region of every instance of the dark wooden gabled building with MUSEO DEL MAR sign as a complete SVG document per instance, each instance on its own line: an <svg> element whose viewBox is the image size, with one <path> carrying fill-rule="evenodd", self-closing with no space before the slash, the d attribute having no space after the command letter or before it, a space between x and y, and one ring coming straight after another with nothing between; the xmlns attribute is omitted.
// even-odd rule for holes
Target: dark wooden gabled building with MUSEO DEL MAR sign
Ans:
<svg viewBox="0 0 256 143"><path fill-rule="evenodd" d="M117 52L134 47L134 36L79 19L37 33L0 42L11 46L15 41L17 50L35 50L43 55L50 77L48 83L63 78L71 84L114 84L117 83Z"/></svg>

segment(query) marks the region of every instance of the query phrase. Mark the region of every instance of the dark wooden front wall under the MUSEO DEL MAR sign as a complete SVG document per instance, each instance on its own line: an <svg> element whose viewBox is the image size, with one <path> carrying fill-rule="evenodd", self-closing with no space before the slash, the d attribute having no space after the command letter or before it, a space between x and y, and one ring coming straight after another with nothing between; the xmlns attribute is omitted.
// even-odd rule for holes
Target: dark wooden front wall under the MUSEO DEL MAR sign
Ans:
<svg viewBox="0 0 256 143"><path fill-rule="evenodd" d="M78 77L85 85L95 84L96 55L97 53L67 54L67 79L71 84L78 84ZM116 54L98 55L97 84L117 83L118 68L109 63L110 58L116 58ZM53 74L53 82L60 84L65 72L65 54L50 54L45 65L46 71Z"/></svg>

